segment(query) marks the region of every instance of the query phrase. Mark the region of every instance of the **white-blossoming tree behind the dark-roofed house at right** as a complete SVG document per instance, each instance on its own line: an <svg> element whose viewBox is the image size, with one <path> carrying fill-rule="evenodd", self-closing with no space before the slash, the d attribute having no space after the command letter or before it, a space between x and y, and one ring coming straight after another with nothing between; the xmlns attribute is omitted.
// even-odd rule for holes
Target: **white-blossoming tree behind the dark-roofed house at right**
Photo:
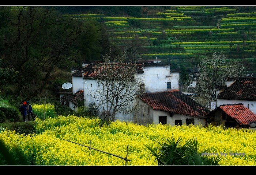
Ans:
<svg viewBox="0 0 256 175"><path fill-rule="evenodd" d="M207 56L199 62L199 78L196 82L196 91L199 97L215 101L215 87L225 85L225 77L245 76L244 66L238 61L228 62L227 56L221 52L213 53L211 58Z"/></svg>

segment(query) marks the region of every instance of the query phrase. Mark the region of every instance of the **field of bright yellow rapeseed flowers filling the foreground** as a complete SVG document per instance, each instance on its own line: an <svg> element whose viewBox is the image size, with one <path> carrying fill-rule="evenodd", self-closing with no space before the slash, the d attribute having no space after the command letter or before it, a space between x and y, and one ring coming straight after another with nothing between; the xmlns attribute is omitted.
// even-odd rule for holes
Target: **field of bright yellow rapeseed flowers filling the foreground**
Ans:
<svg viewBox="0 0 256 175"><path fill-rule="evenodd" d="M35 122L37 134L25 136L7 130L0 133L0 138L10 150L14 146L19 147L28 159L34 159L35 165L121 166L127 163L129 166L156 166L155 157L146 146L159 147L157 142L162 143L171 135L176 140L181 137L182 144L196 136L199 154L206 149L219 155L226 153L220 165L256 165L256 132L253 130L202 125L141 126L119 120L100 127L97 118L74 115L45 120L37 118ZM235 153L243 153L244 156ZM122 159L126 156L130 161Z"/></svg>

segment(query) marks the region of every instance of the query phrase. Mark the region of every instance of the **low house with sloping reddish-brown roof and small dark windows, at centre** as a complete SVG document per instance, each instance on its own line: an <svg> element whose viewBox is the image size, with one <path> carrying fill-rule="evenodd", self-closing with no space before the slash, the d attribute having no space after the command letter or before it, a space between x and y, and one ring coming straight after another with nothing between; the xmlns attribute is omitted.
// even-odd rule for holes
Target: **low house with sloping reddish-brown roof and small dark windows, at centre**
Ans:
<svg viewBox="0 0 256 175"><path fill-rule="evenodd" d="M138 98L141 110L135 114L135 123L170 125L205 125L205 120L200 119L209 110L189 98L179 90L165 92L145 93Z"/></svg>

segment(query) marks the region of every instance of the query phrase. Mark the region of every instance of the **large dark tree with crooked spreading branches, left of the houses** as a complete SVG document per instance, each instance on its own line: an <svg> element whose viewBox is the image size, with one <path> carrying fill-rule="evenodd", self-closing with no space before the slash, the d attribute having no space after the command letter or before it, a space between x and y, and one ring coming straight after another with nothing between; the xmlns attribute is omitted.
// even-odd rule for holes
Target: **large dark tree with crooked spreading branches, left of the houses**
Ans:
<svg viewBox="0 0 256 175"><path fill-rule="evenodd" d="M90 31L82 20L62 15L52 7L1 6L0 14L5 22L1 27L5 43L0 54L9 68L19 72L15 96L29 94L24 100L44 89L58 63L71 64L77 55L71 46Z"/></svg>

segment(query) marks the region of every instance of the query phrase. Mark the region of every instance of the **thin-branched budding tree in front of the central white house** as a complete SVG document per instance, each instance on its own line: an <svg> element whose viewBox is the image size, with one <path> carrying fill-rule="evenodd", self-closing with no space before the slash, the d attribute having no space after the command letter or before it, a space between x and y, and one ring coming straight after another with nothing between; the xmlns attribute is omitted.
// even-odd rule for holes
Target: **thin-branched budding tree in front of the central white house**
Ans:
<svg viewBox="0 0 256 175"><path fill-rule="evenodd" d="M106 120L114 121L117 112L129 114L136 110L134 102L140 92L142 80L136 78L136 64L125 63L126 54L118 55L111 61L110 54L103 63L95 65L97 80L96 93L91 93L103 108Z"/></svg>

